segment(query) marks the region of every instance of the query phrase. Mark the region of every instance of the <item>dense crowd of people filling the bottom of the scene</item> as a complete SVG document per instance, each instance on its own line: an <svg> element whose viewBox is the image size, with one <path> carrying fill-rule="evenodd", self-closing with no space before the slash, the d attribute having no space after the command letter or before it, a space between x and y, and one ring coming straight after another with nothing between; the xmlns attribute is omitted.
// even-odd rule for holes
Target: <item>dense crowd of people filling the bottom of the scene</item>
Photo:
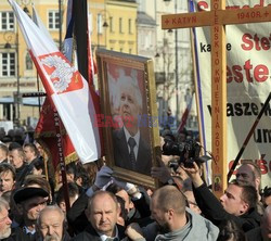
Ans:
<svg viewBox="0 0 271 241"><path fill-rule="evenodd" d="M254 162L240 164L217 198L202 163L163 154L151 169L160 186L151 189L116 178L105 158L63 173L33 134L0 128L0 240L271 240L271 188L260 189ZM197 138L164 129L162 149Z"/></svg>

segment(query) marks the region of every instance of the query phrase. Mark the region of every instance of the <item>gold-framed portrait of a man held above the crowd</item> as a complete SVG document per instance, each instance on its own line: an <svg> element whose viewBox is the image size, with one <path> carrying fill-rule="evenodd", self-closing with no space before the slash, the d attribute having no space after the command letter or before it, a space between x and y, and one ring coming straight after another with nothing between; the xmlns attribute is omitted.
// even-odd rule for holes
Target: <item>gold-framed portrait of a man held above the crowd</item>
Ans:
<svg viewBox="0 0 271 241"><path fill-rule="evenodd" d="M156 90L151 59L98 50L98 76L107 165L124 180L157 187L151 177L160 155Z"/></svg>

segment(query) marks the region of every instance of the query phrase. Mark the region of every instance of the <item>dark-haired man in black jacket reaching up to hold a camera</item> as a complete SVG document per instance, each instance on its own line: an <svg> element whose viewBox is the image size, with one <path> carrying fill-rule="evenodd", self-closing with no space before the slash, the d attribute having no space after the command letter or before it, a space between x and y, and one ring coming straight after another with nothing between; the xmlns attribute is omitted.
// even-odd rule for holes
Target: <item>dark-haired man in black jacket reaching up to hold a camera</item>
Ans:
<svg viewBox="0 0 271 241"><path fill-rule="evenodd" d="M182 165L182 164L181 164ZM196 202L206 218L219 226L224 219L232 219L244 231L256 228L260 224L260 215L256 212L257 191L255 187L234 180L229 183L224 194L218 201L204 183L197 164L182 168L192 179Z"/></svg>

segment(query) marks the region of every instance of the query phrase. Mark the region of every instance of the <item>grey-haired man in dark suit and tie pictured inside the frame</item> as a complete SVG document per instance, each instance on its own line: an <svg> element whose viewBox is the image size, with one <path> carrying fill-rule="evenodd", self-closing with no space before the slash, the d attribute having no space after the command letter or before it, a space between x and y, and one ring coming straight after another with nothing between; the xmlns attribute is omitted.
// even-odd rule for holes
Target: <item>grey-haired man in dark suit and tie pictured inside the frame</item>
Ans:
<svg viewBox="0 0 271 241"><path fill-rule="evenodd" d="M115 165L144 175L151 175L151 144L144 127L140 125L143 97L138 75L120 72L116 80L117 111L121 124L113 129ZM143 81L143 78L141 79ZM147 129L147 128L145 128Z"/></svg>

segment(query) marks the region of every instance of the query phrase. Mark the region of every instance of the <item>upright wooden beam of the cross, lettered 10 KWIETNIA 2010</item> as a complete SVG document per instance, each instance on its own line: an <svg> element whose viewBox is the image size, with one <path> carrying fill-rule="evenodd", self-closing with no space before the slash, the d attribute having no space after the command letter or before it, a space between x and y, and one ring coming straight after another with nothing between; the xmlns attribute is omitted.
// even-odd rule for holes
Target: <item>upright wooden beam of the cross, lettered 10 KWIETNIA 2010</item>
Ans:
<svg viewBox="0 0 271 241"><path fill-rule="evenodd" d="M218 10L224 10L224 0L212 0L211 33L211 153L212 190L221 196L227 187L227 54L225 26L220 24Z"/></svg>

